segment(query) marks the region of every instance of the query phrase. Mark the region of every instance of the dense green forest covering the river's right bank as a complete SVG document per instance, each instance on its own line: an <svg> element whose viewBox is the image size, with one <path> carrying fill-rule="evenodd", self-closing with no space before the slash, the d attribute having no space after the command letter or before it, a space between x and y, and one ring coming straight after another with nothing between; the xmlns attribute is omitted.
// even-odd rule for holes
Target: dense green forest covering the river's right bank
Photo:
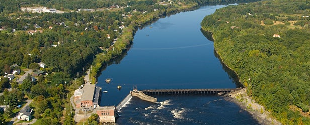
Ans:
<svg viewBox="0 0 310 125"><path fill-rule="evenodd" d="M310 0L230 5L201 22L247 94L283 124L310 124Z"/></svg>

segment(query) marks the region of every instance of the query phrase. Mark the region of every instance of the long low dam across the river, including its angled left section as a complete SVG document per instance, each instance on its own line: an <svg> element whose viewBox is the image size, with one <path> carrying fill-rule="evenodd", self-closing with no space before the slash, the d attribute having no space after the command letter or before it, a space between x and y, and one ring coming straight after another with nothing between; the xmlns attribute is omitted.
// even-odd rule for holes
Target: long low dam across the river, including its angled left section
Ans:
<svg viewBox="0 0 310 125"><path fill-rule="evenodd" d="M219 88L219 89L150 89L150 90L137 90L135 87L130 93L116 106L116 110L120 111L121 108L132 98L138 97L141 100L156 102L157 98L149 95L198 95L198 94L218 94L230 93L241 90L242 88Z"/></svg>

